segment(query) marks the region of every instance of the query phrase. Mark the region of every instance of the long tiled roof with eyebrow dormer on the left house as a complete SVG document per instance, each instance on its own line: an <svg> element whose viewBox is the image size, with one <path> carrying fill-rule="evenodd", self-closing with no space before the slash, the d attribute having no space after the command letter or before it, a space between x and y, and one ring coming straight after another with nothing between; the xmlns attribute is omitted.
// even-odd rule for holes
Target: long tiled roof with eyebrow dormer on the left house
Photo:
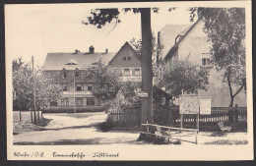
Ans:
<svg viewBox="0 0 256 166"><path fill-rule="evenodd" d="M43 70L54 71L54 70L62 70L65 68L66 70L74 70L85 69L89 65L95 63L99 59L101 59L105 64L108 64L109 61L114 57L116 53L94 53L89 54L79 52L75 53L48 53L46 59L43 64ZM77 65L65 65L70 61L75 61Z"/></svg>

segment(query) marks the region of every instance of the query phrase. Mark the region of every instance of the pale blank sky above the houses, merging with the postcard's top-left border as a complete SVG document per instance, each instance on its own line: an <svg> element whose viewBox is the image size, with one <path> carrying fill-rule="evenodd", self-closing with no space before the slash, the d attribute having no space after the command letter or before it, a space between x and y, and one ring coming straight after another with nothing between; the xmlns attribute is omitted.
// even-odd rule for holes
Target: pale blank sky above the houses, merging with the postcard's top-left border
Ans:
<svg viewBox="0 0 256 166"><path fill-rule="evenodd" d="M102 4L101 4L102 5ZM109 5L109 4L108 4ZM107 5L105 5L107 7ZM5 6L6 55L12 59L22 57L42 66L49 52L88 52L93 45L96 52L117 52L125 41L141 38L140 14L121 13L121 23L114 28L85 26L91 9L102 7L89 4L23 4ZM127 7L127 6L118 6ZM159 7L159 6L158 6ZM179 7L160 6L159 14L152 13L152 30L155 34L166 24L191 25L189 12Z"/></svg>

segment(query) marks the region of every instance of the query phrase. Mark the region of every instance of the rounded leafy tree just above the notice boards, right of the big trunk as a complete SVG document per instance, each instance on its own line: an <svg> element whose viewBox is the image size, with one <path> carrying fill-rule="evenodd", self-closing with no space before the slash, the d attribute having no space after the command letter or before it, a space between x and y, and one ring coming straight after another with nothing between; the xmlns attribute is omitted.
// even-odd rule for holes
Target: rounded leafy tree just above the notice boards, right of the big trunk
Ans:
<svg viewBox="0 0 256 166"><path fill-rule="evenodd" d="M163 73L165 88L173 97L178 97L181 90L185 93L196 93L198 89L207 90L208 77L208 69L182 60L177 61L171 69L166 66Z"/></svg>

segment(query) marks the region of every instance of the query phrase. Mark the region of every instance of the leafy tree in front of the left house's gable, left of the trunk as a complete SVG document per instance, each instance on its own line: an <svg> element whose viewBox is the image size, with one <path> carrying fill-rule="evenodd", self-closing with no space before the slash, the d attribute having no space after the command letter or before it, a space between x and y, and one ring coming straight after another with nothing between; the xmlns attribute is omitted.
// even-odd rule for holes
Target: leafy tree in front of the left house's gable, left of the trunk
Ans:
<svg viewBox="0 0 256 166"><path fill-rule="evenodd" d="M103 101L105 108L123 111L133 109L134 105L138 104L139 97L136 90L139 85L121 82L120 72L105 66L101 60L91 65L86 71L87 77L96 79L92 93Z"/></svg>

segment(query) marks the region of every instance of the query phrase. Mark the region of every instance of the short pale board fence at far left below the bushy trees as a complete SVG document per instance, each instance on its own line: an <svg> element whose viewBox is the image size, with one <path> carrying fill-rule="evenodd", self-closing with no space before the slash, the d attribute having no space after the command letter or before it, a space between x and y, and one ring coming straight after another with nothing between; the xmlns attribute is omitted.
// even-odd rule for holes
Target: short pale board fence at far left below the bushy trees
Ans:
<svg viewBox="0 0 256 166"><path fill-rule="evenodd" d="M35 112L36 122L42 119L41 111ZM13 123L33 123L34 111L13 111Z"/></svg>

